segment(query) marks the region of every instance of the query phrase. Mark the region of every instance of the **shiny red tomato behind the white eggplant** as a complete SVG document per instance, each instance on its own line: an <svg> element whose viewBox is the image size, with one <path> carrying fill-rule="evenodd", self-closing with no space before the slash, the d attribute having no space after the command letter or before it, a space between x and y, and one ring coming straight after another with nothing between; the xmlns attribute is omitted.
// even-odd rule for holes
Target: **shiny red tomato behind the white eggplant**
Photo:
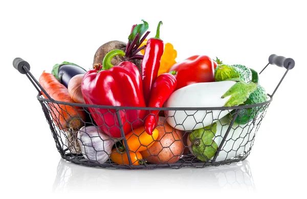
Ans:
<svg viewBox="0 0 307 199"><path fill-rule="evenodd" d="M178 90L195 83L214 82L213 67L213 61L209 56L194 55L174 64L168 71L177 71L175 90Z"/></svg>

